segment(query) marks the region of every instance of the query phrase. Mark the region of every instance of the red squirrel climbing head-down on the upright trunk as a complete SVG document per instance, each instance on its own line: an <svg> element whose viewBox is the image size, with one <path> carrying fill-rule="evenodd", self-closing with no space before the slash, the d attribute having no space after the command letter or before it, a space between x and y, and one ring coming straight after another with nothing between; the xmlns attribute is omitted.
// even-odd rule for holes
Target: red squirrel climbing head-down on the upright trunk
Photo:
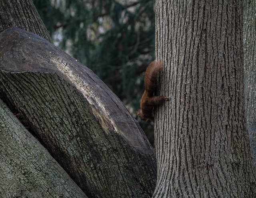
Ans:
<svg viewBox="0 0 256 198"><path fill-rule="evenodd" d="M136 112L137 116L139 116L145 122L148 119L154 122L154 116L152 114L154 106L161 104L164 102L164 100L169 100L169 98L165 96L154 96L154 88L156 88L157 76L162 68L163 66L161 61L153 61L146 69L144 78L145 92L140 102L141 109Z"/></svg>

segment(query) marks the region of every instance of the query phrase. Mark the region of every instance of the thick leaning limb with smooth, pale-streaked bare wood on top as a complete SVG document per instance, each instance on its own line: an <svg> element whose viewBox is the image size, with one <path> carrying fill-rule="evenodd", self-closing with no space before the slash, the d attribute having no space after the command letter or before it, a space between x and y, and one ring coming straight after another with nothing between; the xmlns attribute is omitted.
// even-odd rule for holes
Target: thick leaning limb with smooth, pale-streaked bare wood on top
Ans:
<svg viewBox="0 0 256 198"><path fill-rule="evenodd" d="M43 38L0 32L0 95L89 197L149 197L155 156L124 104Z"/></svg>

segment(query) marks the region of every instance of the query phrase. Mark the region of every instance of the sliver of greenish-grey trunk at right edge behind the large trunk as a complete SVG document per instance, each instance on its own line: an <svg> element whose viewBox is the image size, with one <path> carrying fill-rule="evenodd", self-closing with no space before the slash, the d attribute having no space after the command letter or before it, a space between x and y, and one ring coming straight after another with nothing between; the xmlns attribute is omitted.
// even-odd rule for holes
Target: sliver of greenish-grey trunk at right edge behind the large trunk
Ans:
<svg viewBox="0 0 256 198"><path fill-rule="evenodd" d="M256 168L256 2L244 1L244 91L252 157Z"/></svg>

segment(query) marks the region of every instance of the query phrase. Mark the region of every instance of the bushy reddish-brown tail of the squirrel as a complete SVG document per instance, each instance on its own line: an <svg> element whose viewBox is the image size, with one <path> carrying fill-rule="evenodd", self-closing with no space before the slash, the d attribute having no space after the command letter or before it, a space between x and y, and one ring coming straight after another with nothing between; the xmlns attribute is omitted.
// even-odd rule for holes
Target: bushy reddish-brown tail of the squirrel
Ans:
<svg viewBox="0 0 256 198"><path fill-rule="evenodd" d="M157 75L162 70L162 62L161 61L154 61L150 63L148 68L146 69L145 73L145 90L148 92L148 94L153 95L154 94L154 88L156 87L156 81L157 81Z"/></svg>

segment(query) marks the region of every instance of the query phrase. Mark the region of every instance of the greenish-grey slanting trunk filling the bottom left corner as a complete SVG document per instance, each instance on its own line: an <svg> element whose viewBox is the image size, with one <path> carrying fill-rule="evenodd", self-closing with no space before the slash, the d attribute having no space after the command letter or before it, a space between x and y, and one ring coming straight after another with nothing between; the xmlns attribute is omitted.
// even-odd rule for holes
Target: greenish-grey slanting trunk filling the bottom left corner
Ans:
<svg viewBox="0 0 256 198"><path fill-rule="evenodd" d="M87 197L2 100L0 153L0 197Z"/></svg>

